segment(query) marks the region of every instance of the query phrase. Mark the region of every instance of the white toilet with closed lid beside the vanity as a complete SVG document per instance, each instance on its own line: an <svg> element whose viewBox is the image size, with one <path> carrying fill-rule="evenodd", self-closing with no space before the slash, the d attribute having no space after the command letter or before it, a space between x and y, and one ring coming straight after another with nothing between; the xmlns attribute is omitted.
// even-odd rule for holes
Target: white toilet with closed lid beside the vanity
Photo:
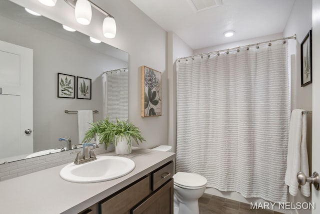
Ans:
<svg viewBox="0 0 320 214"><path fill-rule="evenodd" d="M171 146L161 145L153 148L171 152ZM177 172L173 175L174 214L198 214L198 199L203 195L207 180L205 177L189 172Z"/></svg>

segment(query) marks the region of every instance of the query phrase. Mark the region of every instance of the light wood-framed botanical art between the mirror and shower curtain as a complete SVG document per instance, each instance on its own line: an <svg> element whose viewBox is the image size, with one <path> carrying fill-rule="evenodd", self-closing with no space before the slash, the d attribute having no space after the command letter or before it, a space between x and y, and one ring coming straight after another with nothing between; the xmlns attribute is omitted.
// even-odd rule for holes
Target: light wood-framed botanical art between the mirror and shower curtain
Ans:
<svg viewBox="0 0 320 214"><path fill-rule="evenodd" d="M161 72L141 66L141 117L161 116Z"/></svg>

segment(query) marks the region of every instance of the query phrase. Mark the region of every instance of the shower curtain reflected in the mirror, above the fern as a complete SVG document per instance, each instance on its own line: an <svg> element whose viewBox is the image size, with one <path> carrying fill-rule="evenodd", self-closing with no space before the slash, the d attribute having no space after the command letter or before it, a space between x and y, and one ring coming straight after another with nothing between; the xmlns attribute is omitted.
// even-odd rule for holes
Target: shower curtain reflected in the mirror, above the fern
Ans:
<svg viewBox="0 0 320 214"><path fill-rule="evenodd" d="M113 70L102 74L103 116L115 122L128 119L128 69Z"/></svg>

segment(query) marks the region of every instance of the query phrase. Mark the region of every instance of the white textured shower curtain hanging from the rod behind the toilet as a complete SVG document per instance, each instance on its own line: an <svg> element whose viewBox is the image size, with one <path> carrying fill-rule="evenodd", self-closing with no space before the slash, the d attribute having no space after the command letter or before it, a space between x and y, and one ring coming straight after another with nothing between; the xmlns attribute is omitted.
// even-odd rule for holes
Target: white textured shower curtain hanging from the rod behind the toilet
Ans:
<svg viewBox="0 0 320 214"><path fill-rule="evenodd" d="M177 62L176 170L286 201L288 81L282 41Z"/></svg>

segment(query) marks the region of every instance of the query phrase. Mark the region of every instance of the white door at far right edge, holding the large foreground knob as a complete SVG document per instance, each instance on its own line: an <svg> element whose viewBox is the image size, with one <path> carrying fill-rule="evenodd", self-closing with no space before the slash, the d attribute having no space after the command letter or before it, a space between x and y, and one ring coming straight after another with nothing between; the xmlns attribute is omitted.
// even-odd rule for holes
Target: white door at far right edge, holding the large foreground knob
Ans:
<svg viewBox="0 0 320 214"><path fill-rule="evenodd" d="M312 2L312 172L320 173L320 0ZM310 176L310 175L309 175ZM313 185L312 214L320 213L320 191Z"/></svg>

